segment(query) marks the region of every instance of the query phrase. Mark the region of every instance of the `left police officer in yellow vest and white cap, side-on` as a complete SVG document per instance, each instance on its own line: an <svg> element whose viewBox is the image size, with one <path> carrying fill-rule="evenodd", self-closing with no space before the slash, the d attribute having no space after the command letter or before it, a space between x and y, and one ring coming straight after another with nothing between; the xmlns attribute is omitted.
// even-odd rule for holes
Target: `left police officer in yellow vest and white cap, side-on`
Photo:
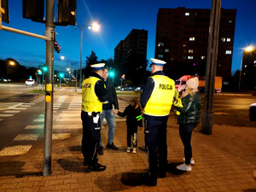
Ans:
<svg viewBox="0 0 256 192"><path fill-rule="evenodd" d="M105 63L91 65L93 73L82 84L82 153L84 166L88 166L88 172L101 172L106 169L106 166L97 162L96 154L96 145L101 138L100 113L102 113L102 102L107 101L107 90L102 81L104 66Z"/></svg>

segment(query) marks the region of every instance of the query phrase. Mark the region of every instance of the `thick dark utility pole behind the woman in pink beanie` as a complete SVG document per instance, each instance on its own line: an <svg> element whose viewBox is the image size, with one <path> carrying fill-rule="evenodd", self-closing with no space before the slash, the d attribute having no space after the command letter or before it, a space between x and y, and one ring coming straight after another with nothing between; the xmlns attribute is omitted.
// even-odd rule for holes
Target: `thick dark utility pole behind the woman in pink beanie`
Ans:
<svg viewBox="0 0 256 192"><path fill-rule="evenodd" d="M212 10L207 49L206 89L201 123L201 132L207 135L212 134L212 102L214 96L214 83L218 56L218 32L221 10L220 5L221 0L212 0Z"/></svg>

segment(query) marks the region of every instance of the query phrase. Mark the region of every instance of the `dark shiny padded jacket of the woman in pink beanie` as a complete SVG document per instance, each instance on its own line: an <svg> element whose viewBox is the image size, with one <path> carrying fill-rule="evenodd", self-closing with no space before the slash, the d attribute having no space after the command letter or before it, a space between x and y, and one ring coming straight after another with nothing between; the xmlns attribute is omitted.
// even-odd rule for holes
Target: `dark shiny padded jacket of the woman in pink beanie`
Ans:
<svg viewBox="0 0 256 192"><path fill-rule="evenodd" d="M182 99L183 108L176 107L180 114L177 116L178 124L199 124L201 110L200 92L193 92Z"/></svg>

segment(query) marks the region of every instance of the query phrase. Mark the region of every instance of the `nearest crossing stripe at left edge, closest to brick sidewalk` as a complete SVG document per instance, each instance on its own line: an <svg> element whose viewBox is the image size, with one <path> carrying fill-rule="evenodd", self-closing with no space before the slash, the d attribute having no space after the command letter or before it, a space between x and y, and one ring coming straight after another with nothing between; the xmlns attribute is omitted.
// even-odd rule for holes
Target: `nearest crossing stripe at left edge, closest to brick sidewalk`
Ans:
<svg viewBox="0 0 256 192"><path fill-rule="evenodd" d="M15 145L10 147L4 147L0 151L0 156L3 157L3 156L26 154L30 148L32 148L32 145Z"/></svg>

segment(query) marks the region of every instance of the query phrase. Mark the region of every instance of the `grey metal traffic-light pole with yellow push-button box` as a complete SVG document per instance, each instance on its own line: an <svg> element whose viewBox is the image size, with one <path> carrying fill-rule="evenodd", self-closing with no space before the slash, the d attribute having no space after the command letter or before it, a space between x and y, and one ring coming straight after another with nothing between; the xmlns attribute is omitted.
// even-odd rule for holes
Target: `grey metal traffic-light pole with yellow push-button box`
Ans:
<svg viewBox="0 0 256 192"><path fill-rule="evenodd" d="M51 148L52 148L52 124L53 124L53 66L54 66L54 8L55 1L46 1L46 54L45 65L48 67L45 73L45 115L44 115L44 176L51 173Z"/></svg>

